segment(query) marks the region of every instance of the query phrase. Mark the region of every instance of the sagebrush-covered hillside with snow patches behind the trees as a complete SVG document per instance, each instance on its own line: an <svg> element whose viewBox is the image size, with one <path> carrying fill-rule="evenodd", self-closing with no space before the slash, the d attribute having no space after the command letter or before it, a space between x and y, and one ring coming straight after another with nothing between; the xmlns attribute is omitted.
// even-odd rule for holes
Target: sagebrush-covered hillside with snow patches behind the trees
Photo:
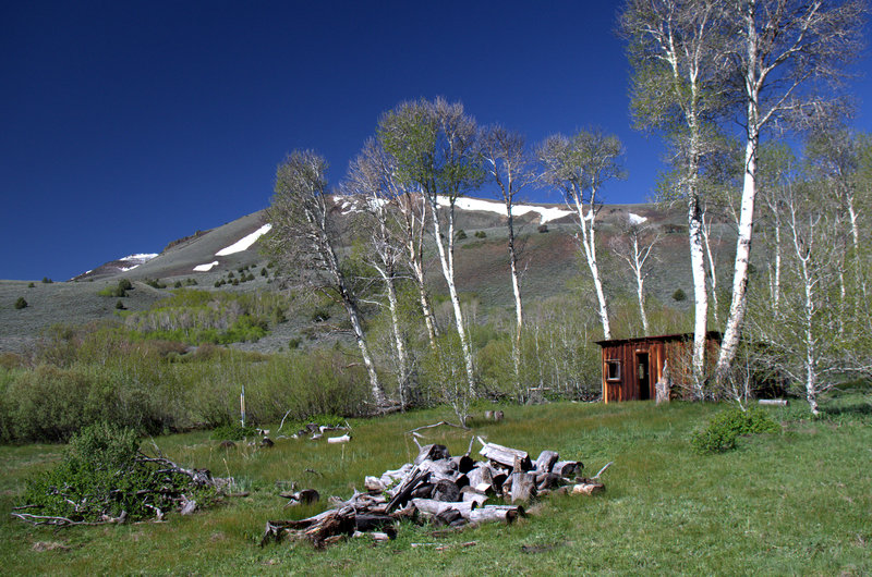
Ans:
<svg viewBox="0 0 872 577"><path fill-rule="evenodd" d="M335 197L334 210L341 216L351 216L356 209L353 199ZM586 274L586 265L574 238L573 216L566 207L523 205L517 207L516 214L522 291L528 302L561 294L570 280L580 273ZM678 288L688 295L692 292L683 213L654 205L603 207L597 242L608 292L618 296L633 291L629 270L610 254L608 245L618 234L618 224L631 214L635 219L646 219L662 235L655 248L656 261L646 281L649 294L673 306L687 307L687 300L671 298ZM68 282L0 281L0 352L27 349L41 331L56 323L80 324L111 317L117 299L99 296L97 292L120 279L129 279L134 286L124 299L129 310L147 309L156 300L169 296L177 282L195 283L198 288L209 291L252 292L276 286L268 284L268 278L255 274L253 281L239 286L214 287L216 281L227 279L231 271L245 267L258 271L267 265L256 242L268 230L264 219L264 211L258 211L185 238L168 240L167 248L159 255L132 255L110 260ZM485 308L510 307L512 303L505 223L505 208L499 202L464 198L459 204L457 229L462 230L467 238L457 243L458 286L462 293L476 297ZM719 225L717 234L720 235L715 245L718 266L720 271L727 272L735 236L726 224ZM433 250L429 267L434 290L443 291L444 282ZM149 286L146 284L149 280L159 280L166 287ZM722 283L726 285L724 280ZM27 300L26 308L16 310L13 307L19 297ZM277 342L287 342L288 336L278 335ZM270 351L271 346L266 342L259 348Z"/></svg>

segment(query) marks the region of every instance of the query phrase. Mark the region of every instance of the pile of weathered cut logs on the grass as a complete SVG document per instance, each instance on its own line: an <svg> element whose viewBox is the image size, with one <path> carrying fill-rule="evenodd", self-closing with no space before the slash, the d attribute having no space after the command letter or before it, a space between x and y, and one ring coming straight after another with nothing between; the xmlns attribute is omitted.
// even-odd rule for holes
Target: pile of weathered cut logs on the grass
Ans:
<svg viewBox="0 0 872 577"><path fill-rule="evenodd" d="M308 539L322 548L367 533L377 541L387 540L396 536L396 521L404 518L448 527L511 523L524 515L523 505L537 495L605 490L598 475L578 477L583 465L560 461L554 451L543 451L531 461L525 451L479 441L484 461L474 462L470 452L452 457L439 444L422 446L414 463L366 477L365 492L355 491L347 501L331 498L331 510L302 520L267 521L261 545L288 538ZM492 498L511 504L485 504Z"/></svg>

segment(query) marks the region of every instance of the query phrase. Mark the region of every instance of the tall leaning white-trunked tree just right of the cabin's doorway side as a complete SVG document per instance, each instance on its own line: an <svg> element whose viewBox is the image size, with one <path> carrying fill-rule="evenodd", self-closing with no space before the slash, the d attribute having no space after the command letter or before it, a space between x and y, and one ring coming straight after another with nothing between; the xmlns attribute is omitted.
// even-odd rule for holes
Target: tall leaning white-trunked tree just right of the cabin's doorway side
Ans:
<svg viewBox="0 0 872 577"><path fill-rule="evenodd" d="M728 13L738 34L730 51L735 94L744 128L744 177L729 317L715 377L724 382L739 345L748 293L755 214L758 156L764 130L779 121L803 123L832 114L833 98L819 88L836 82L857 57L867 13L861 0L734 0Z"/></svg>

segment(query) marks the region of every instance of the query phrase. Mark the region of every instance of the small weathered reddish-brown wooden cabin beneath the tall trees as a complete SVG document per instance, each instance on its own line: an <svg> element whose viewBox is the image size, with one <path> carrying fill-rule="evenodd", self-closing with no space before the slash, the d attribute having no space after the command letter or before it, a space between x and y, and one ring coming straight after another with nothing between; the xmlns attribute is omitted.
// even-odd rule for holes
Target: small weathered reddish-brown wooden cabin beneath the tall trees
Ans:
<svg viewBox="0 0 872 577"><path fill-rule="evenodd" d="M711 331L705 340L706 354L713 359L720 347L720 333ZM664 380L664 367L668 367L667 390L690 382L692 333L614 339L596 344L603 351L604 403L656 398L655 384Z"/></svg>

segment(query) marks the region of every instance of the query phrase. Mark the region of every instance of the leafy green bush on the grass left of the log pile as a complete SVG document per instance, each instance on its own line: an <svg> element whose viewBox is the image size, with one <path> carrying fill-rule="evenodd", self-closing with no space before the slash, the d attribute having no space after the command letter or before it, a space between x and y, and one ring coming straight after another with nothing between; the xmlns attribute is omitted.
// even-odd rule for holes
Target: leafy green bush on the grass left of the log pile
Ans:
<svg viewBox="0 0 872 577"><path fill-rule="evenodd" d="M160 469L141 458L132 429L98 422L72 437L53 469L27 482L24 502L37 515L93 523L122 513L130 520L153 517L155 507L173 507L182 492L201 504L215 496L214 489L194 486L186 475Z"/></svg>

